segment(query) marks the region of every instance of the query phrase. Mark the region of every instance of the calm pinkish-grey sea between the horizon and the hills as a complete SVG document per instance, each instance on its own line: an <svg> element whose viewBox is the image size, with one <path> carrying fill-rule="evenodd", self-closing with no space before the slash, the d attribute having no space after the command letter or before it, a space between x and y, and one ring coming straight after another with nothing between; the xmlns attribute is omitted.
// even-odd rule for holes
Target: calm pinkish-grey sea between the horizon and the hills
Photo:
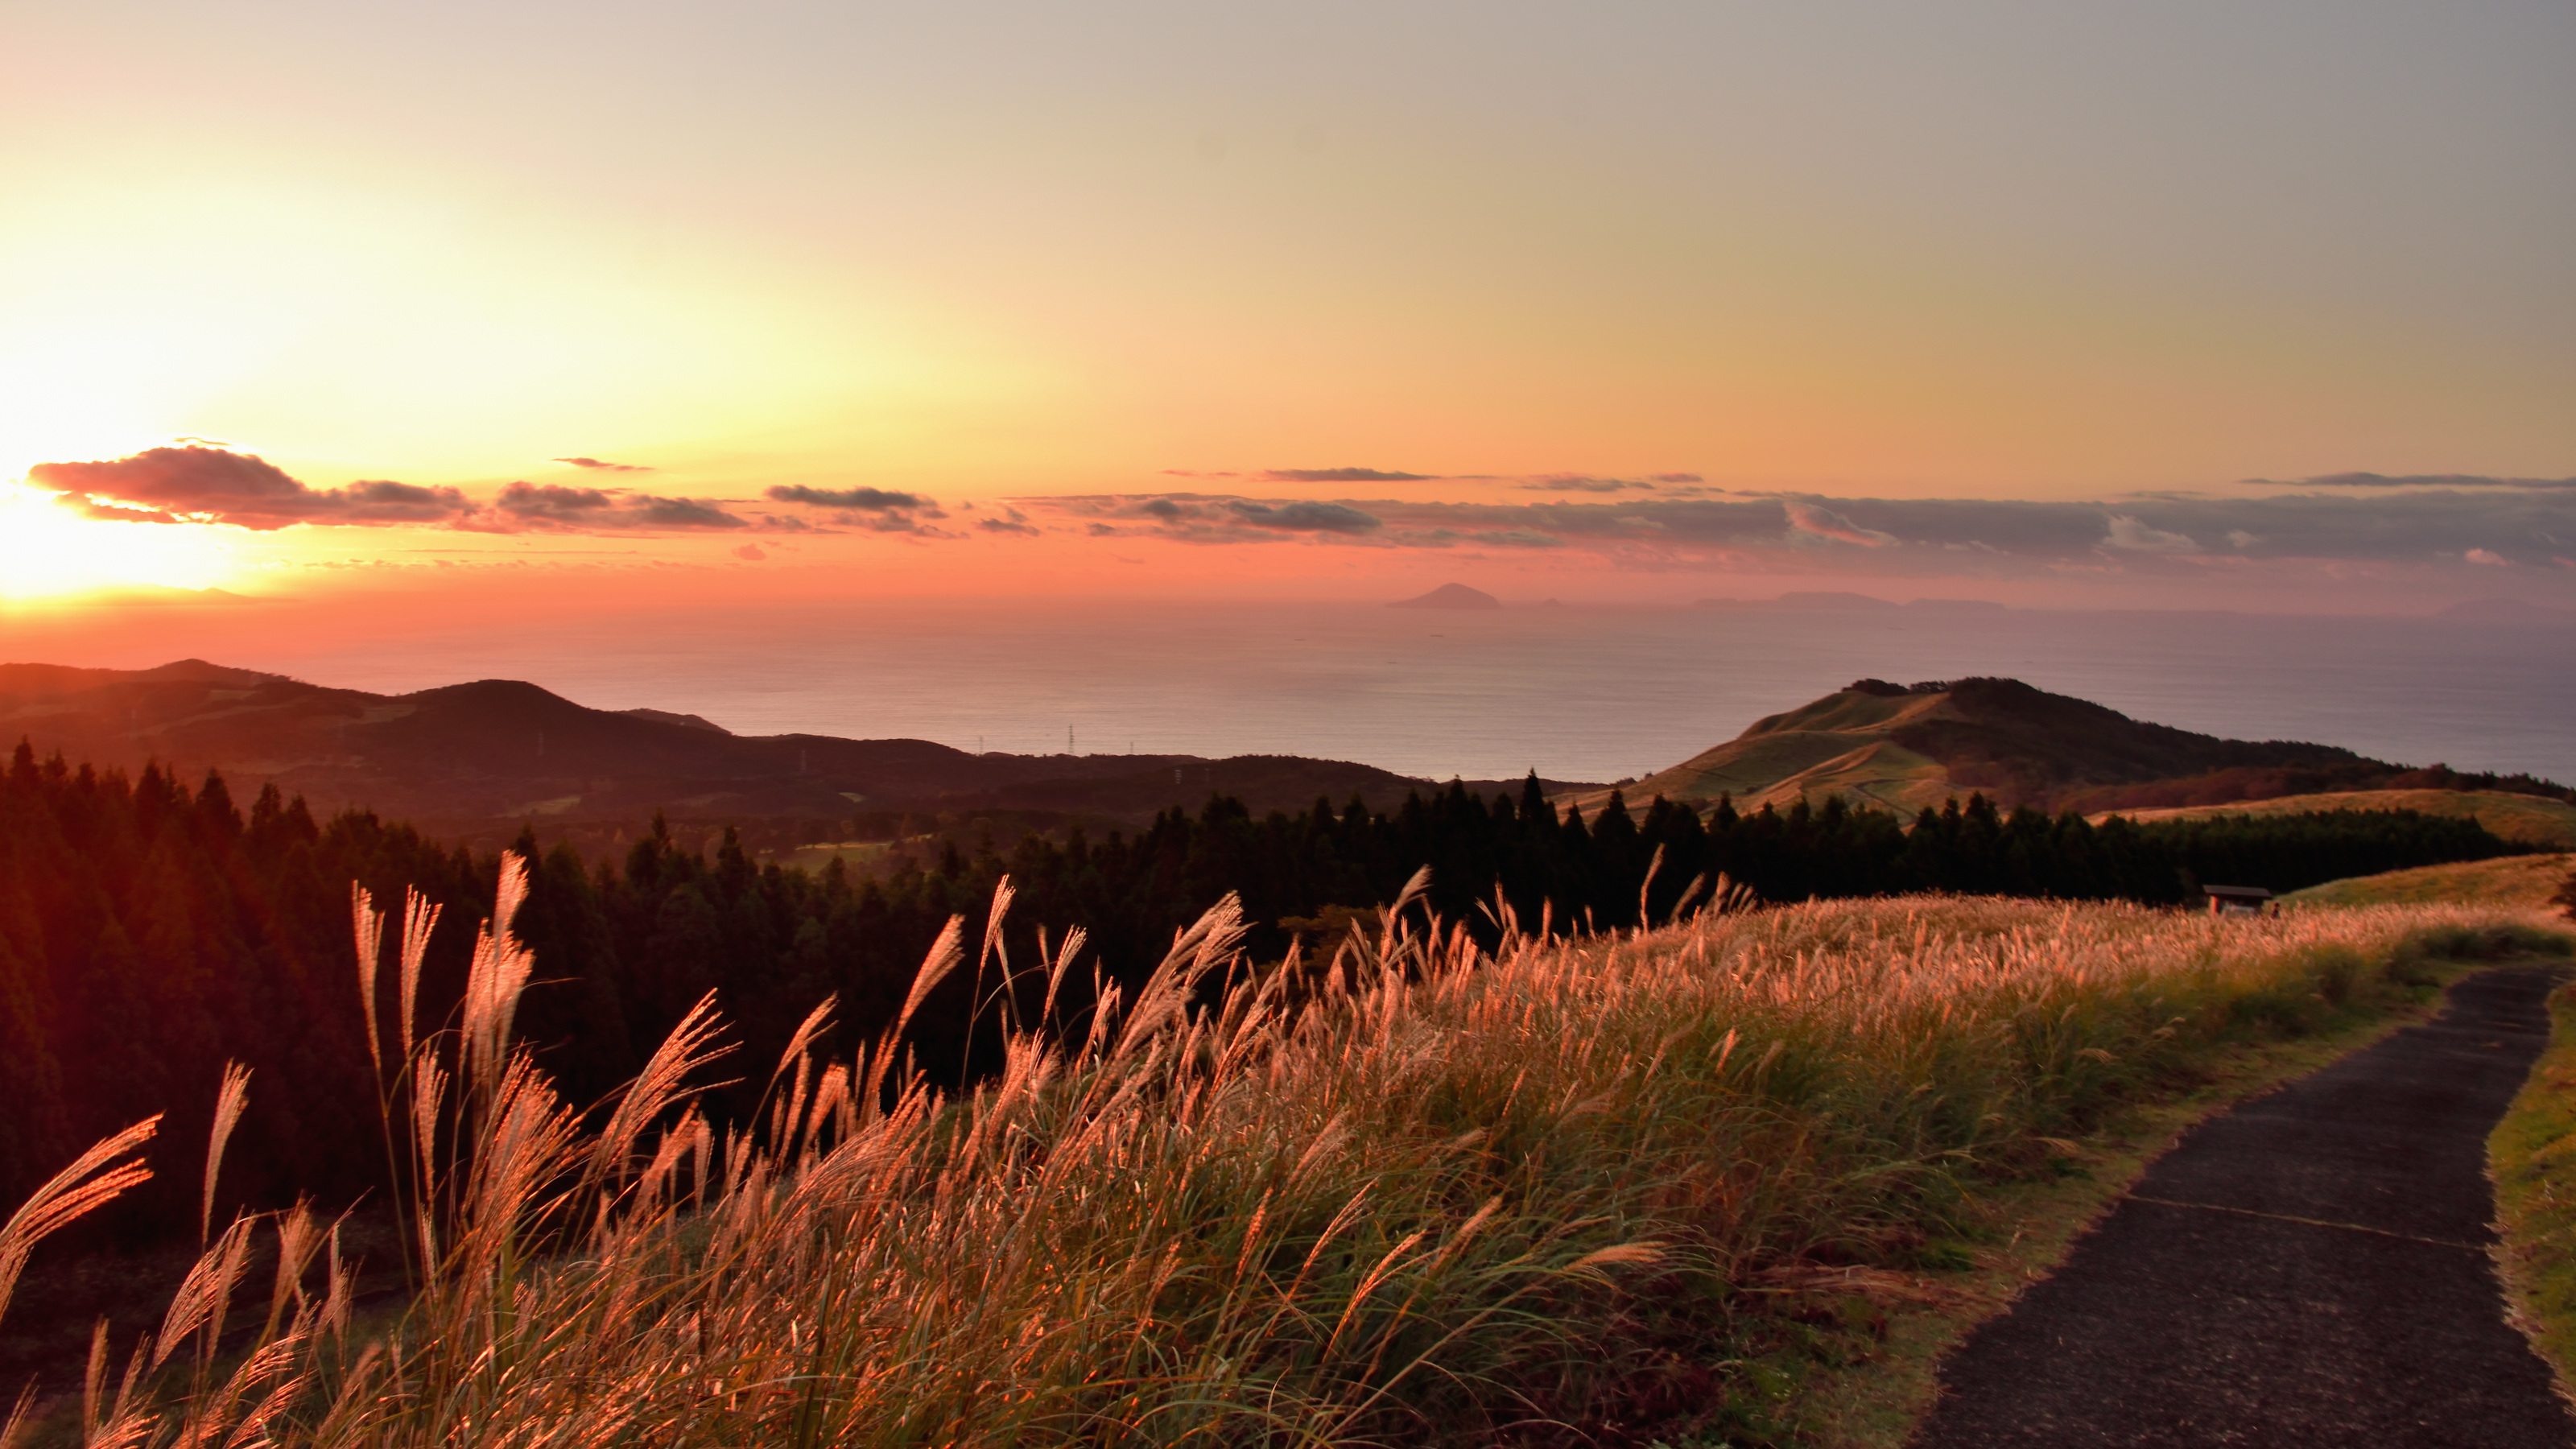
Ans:
<svg viewBox="0 0 2576 1449"><path fill-rule="evenodd" d="M672 608L242 645L188 652L374 691L528 678L747 735L1056 753L1072 727L1082 753L1296 753L1432 779L1638 776L1862 676L1984 673L2184 730L2576 781L2576 629L2553 624L1066 603Z"/></svg>

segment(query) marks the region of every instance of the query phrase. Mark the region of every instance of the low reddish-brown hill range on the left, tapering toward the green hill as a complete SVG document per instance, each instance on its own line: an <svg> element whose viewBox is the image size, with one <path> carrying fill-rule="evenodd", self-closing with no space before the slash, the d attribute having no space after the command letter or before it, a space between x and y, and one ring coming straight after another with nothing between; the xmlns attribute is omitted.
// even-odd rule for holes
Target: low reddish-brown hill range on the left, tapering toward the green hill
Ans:
<svg viewBox="0 0 2576 1449"><path fill-rule="evenodd" d="M549 833L631 828L654 810L719 825L773 820L791 843L866 833L866 817L891 828L899 815L1121 825L1211 792L1267 812L1306 810L1319 794L1394 807L1432 784L1298 755L979 755L930 740L732 735L696 714L587 709L520 681L386 696L206 660L0 665L0 743L18 737L39 755L126 771L147 761L222 768L234 792L276 784L317 810L371 807L469 841L507 838L528 820Z"/></svg>

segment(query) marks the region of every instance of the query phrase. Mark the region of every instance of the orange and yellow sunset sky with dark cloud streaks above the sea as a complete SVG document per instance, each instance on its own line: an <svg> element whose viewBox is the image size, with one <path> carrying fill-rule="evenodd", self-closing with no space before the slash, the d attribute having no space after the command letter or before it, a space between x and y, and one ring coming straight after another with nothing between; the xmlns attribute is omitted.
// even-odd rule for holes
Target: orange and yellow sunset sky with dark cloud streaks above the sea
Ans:
<svg viewBox="0 0 2576 1449"><path fill-rule="evenodd" d="M18 601L2576 603L2561 0L36 0L0 54Z"/></svg>

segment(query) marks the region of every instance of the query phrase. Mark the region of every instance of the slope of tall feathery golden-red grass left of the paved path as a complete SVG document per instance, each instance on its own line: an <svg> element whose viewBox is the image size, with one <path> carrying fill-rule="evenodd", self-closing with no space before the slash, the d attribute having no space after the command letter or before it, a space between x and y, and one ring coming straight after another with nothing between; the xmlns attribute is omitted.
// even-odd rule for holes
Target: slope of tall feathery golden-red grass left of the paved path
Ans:
<svg viewBox="0 0 2576 1449"><path fill-rule="evenodd" d="M502 1055L541 962L487 941L459 1036L379 1024L420 1297L368 1323L317 1225L242 1220L131 1387L57 1413L116 1444L1783 1444L1808 1374L1873 1354L1860 1289L1965 1261L1999 1183L2496 931L1914 897L1262 975L1229 902L966 1098L902 1075L902 1026L791 1047L760 1145L685 1109L770 1067L716 1065L703 1016L587 1134ZM963 946L925 980L1012 969ZM232 1323L268 1348L219 1356L255 1238L286 1269ZM93 1382L134 1328L103 1343Z"/></svg>

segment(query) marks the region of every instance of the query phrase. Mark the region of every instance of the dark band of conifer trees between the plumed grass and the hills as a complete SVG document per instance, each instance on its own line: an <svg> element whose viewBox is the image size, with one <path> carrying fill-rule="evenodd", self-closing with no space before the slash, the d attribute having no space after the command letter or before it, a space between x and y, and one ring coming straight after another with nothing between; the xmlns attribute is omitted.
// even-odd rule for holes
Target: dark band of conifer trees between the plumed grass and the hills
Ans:
<svg viewBox="0 0 2576 1449"><path fill-rule="evenodd" d="M1231 799L1103 843L1025 838L1007 856L951 843L930 869L886 882L757 866L726 835L708 861L670 833L621 866L536 856L518 936L538 985L520 1039L574 1101L611 1093L708 990L742 1052L752 1106L804 1013L840 995L840 1049L873 1039L948 915L981 931L994 882L1018 908L1010 959L1038 959L1038 931L1090 931L1056 1003L1079 1029L1100 980L1136 982L1229 890L1265 923L1255 959L1288 949L1283 918L1391 900L1432 866L1432 908L1492 936L1497 887L1522 928L1628 928L1667 918L1695 882L1726 871L1762 900L1953 890L2184 902L2195 877L2277 890L2396 866L2481 859L2506 846L2463 820L2416 815L2233 817L2102 828L2081 817L1999 815L1984 799L1924 812L1911 830L1878 810L1703 820L1654 802L1643 820L1613 797L1592 817L1558 812L1535 781L1520 799L1463 789L1394 812L1358 802L1255 820ZM1662 861L1656 866L1656 851ZM417 887L443 905L422 977L422 1029L451 1024L497 861L348 812L317 822L268 789L247 817L219 776L188 789L160 768L39 763L21 745L0 786L0 1204L21 1201L88 1142L167 1114L157 1181L100 1232L126 1240L193 1227L214 1088L227 1060L252 1067L250 1114L224 1160L224 1201L278 1207L296 1194L355 1201L381 1186L381 1134L350 946L350 882L394 905ZM1649 879L1651 871L1651 879ZM1705 897L1705 884L1700 897ZM1095 975L1097 972L1097 975ZM381 972L392 1011L394 972ZM956 972L914 1021L938 1080L963 1080L999 1026L997 975ZM1038 1008L1033 980L1015 1011ZM979 1016L974 1003L984 1003ZM976 1029L981 1024L981 1034ZM222 1204L219 1217L222 1220Z"/></svg>

